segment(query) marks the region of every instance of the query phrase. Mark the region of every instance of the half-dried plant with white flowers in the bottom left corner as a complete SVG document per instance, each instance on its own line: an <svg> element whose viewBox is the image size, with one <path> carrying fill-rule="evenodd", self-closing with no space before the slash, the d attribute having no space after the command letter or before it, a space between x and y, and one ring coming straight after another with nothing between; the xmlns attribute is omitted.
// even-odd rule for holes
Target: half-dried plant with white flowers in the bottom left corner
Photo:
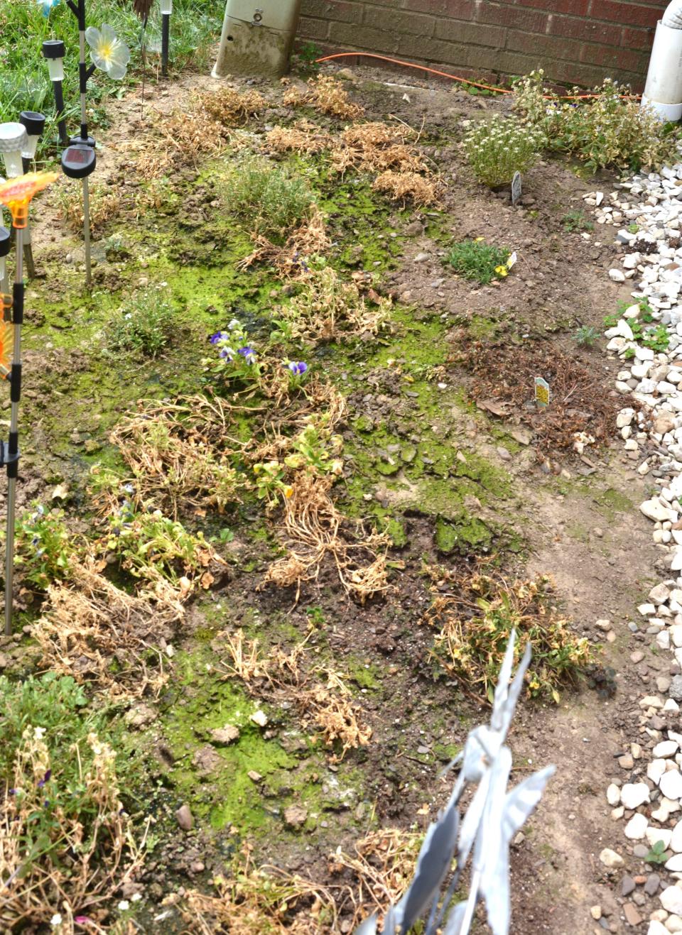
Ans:
<svg viewBox="0 0 682 935"><path fill-rule="evenodd" d="M73 935L96 928L88 913L96 917L138 870L141 845L123 811L109 744L94 734L88 751L77 744L78 784L65 788L44 733L26 727L12 787L0 798L0 920L6 931L43 930L59 914L59 931Z"/></svg>

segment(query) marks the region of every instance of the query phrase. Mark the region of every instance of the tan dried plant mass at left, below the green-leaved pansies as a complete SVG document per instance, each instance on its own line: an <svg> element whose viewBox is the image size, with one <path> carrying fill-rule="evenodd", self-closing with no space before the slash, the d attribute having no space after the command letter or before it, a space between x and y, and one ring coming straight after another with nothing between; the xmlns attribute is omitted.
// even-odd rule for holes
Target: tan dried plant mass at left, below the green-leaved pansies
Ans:
<svg viewBox="0 0 682 935"><path fill-rule="evenodd" d="M154 647L171 638L181 603L163 584L154 601L126 594L102 575L105 564L85 558L73 564L68 584L51 585L48 609L33 627L42 664L113 695L158 696L167 672Z"/></svg>

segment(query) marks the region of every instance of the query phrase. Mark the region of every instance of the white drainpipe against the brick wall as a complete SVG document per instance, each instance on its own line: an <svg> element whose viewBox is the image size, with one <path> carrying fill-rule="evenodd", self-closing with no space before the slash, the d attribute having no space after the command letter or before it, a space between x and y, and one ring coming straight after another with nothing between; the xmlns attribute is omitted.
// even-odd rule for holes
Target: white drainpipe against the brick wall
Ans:
<svg viewBox="0 0 682 935"><path fill-rule="evenodd" d="M682 117L682 0L672 0L656 25L642 106L661 121Z"/></svg>

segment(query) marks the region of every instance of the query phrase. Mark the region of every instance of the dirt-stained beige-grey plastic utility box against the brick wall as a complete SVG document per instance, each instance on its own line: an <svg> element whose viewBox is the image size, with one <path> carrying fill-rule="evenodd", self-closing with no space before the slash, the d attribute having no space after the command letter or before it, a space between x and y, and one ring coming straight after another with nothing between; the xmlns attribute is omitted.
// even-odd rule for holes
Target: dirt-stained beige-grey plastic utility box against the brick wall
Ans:
<svg viewBox="0 0 682 935"><path fill-rule="evenodd" d="M227 0L213 78L266 75L289 70L300 0Z"/></svg>

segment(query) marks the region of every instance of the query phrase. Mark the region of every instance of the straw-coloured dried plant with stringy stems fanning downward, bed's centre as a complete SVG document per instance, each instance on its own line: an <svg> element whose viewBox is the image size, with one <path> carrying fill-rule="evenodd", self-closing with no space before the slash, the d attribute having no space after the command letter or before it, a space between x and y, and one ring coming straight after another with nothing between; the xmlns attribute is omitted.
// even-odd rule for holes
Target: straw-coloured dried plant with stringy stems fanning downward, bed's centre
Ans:
<svg viewBox="0 0 682 935"><path fill-rule="evenodd" d="M313 581L327 555L334 559L344 591L364 604L369 597L388 590L383 535L367 535L358 525L350 542L341 536L345 517L336 509L329 491L334 478L297 472L292 496L284 506L283 534L289 554L268 569L266 583L280 587L297 586L298 600L302 582ZM377 550L384 550L377 554ZM363 559L369 564L362 564Z"/></svg>

